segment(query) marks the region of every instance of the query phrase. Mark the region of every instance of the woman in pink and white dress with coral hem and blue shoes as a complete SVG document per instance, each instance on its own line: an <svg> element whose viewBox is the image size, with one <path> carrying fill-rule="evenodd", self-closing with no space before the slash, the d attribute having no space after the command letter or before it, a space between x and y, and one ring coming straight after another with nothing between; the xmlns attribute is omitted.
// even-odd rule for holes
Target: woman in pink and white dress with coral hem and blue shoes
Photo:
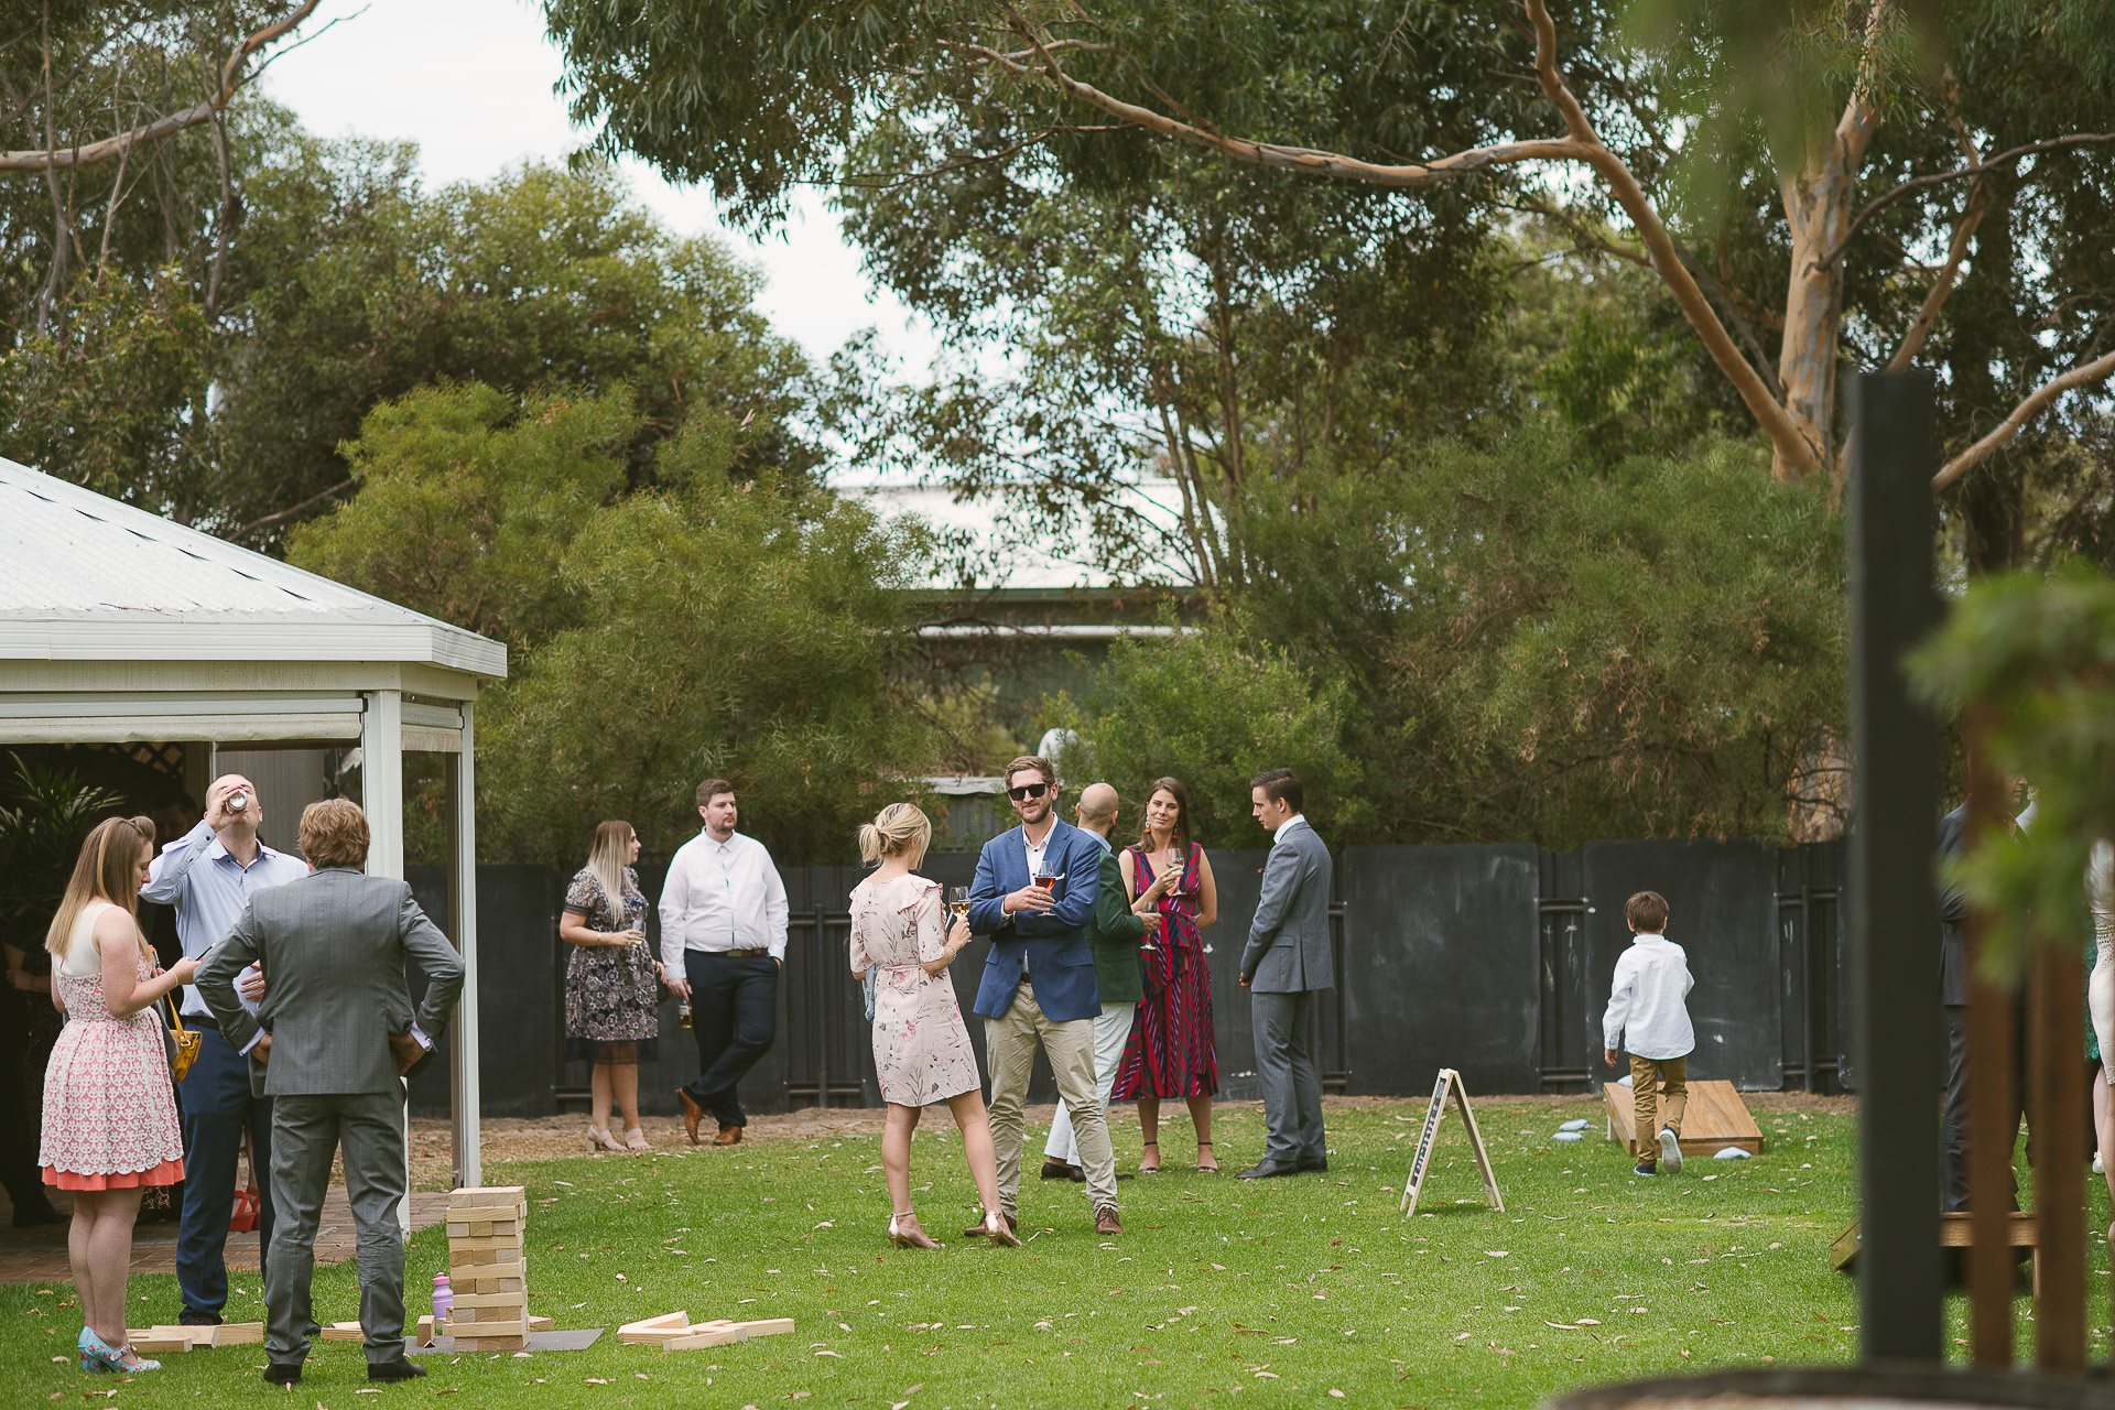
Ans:
<svg viewBox="0 0 2115 1410"><path fill-rule="evenodd" d="M97 822L51 920L53 1002L66 1032L44 1068L44 1184L72 1192L68 1260L80 1292L80 1370L159 1370L125 1336L125 1273L148 1186L184 1177L184 1142L157 1000L190 983L197 960L163 970L140 934L154 824Z"/></svg>

